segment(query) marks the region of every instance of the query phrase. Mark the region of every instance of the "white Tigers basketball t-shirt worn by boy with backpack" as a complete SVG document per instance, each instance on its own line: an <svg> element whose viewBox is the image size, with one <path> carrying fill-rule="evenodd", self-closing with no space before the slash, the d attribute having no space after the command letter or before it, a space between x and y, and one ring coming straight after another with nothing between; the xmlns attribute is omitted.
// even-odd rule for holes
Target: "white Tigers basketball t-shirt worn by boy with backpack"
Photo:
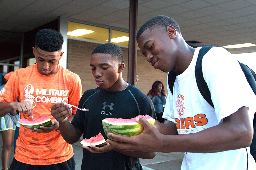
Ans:
<svg viewBox="0 0 256 170"><path fill-rule="evenodd" d="M240 107L250 110L250 120L256 112L256 96L251 90L241 67L228 51L221 47L211 48L203 57L203 77L211 92L212 108L198 90L195 64L201 47L196 48L189 67L176 77L173 95L168 86L168 97L163 118L176 123L179 134L197 133L223 122ZM203 140L203 139L202 139ZM188 144L189 145L189 144ZM249 147L248 170L256 169ZM181 169L246 169L245 148L217 153L185 152Z"/></svg>

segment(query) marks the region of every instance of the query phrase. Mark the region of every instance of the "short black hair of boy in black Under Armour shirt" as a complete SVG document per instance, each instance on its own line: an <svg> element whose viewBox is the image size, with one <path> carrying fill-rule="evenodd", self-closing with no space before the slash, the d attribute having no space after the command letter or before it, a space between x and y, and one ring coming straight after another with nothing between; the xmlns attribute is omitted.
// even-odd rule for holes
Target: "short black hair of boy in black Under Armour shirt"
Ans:
<svg viewBox="0 0 256 170"><path fill-rule="evenodd" d="M123 63L123 51L121 48L112 43L101 44L97 46L92 54L110 54L114 59Z"/></svg>

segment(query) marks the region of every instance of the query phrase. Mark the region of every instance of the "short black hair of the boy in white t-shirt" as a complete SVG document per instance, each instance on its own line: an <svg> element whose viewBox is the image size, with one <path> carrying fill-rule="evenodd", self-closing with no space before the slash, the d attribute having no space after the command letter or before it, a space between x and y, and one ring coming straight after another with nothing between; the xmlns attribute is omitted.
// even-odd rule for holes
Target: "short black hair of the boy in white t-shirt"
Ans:
<svg viewBox="0 0 256 170"><path fill-rule="evenodd" d="M141 26L137 33L136 39L138 41L139 37L144 31L146 31L146 29L152 30L154 28L167 27L169 25L172 25L176 29L176 31L178 31L178 33L180 33L181 35L179 24L174 19L168 16L158 15L154 18L151 18Z"/></svg>

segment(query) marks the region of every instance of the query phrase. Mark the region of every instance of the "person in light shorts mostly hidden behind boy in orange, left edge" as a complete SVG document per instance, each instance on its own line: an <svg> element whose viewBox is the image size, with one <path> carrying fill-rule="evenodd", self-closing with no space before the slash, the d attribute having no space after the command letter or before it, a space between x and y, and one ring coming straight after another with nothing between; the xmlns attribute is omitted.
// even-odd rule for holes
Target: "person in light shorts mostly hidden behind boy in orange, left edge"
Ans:
<svg viewBox="0 0 256 170"><path fill-rule="evenodd" d="M10 76L14 72L11 71L4 76L6 82L9 80ZM1 90L1 89L0 89ZM2 150L2 166L3 170L9 169L9 160L11 157L13 137L15 134L16 123L18 121L19 115L16 111L11 111L5 116L1 117L0 120L0 131L3 138L3 150Z"/></svg>

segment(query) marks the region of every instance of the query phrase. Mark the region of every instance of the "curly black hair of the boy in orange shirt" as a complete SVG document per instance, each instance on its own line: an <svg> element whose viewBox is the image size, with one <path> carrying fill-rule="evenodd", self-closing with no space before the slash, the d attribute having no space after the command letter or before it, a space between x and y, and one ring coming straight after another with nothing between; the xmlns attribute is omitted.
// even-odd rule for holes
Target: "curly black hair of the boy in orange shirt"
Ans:
<svg viewBox="0 0 256 170"><path fill-rule="evenodd" d="M55 29L41 29L36 33L35 48L48 52L60 51L63 44L63 36Z"/></svg>

